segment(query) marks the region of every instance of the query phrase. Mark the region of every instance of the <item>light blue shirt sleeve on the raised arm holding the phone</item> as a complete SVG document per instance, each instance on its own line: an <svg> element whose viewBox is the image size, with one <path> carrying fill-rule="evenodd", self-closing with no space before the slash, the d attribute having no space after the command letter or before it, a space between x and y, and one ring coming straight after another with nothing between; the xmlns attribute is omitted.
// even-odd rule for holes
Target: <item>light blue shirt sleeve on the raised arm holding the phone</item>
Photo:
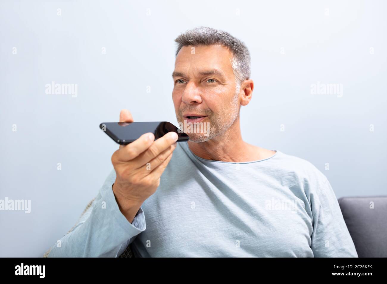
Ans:
<svg viewBox="0 0 387 284"><path fill-rule="evenodd" d="M121 213L112 189L114 181L113 170L91 207L74 229L51 247L48 257L118 257L146 229L142 207L132 223Z"/></svg>

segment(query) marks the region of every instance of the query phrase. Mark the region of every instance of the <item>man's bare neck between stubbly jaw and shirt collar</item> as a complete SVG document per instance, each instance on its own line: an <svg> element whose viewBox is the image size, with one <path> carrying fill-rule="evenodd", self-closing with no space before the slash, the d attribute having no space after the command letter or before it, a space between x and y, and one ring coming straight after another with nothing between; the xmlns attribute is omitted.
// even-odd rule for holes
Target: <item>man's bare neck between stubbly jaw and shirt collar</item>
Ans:
<svg viewBox="0 0 387 284"><path fill-rule="evenodd" d="M207 160L245 162L257 157L257 154L252 157L252 147L255 151L257 148L242 140L239 116L224 133L205 142L188 141L188 146L192 153Z"/></svg>

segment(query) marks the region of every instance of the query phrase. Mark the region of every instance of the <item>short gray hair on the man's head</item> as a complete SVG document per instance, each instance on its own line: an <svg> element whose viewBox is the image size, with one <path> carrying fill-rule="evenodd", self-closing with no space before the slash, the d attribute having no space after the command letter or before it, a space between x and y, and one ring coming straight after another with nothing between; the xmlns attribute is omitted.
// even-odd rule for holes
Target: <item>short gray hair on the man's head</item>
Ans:
<svg viewBox="0 0 387 284"><path fill-rule="evenodd" d="M243 80L250 78L250 52L242 41L231 36L228 32L201 26L180 34L175 41L178 43L175 57L183 46L221 44L229 48L233 54L231 66L236 79L237 92L239 92Z"/></svg>

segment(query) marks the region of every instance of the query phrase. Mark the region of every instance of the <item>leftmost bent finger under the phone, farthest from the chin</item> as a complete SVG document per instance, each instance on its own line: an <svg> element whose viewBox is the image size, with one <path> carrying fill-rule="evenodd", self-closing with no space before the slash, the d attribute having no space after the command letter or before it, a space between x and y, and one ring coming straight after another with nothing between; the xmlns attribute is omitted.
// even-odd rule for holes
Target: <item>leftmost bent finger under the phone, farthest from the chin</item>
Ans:
<svg viewBox="0 0 387 284"><path fill-rule="evenodd" d="M154 141L154 134L151 132L142 134L138 139L128 145L120 145L117 151L116 159L120 162L127 162L139 156L147 150ZM137 168L137 167L136 167Z"/></svg>

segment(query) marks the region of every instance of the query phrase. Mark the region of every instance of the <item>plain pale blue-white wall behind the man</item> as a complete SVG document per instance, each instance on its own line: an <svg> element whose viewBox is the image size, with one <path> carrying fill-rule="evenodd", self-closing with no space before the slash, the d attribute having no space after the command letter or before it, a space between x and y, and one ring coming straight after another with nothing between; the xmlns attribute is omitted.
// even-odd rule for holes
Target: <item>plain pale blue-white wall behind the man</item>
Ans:
<svg viewBox="0 0 387 284"><path fill-rule="evenodd" d="M255 88L241 110L245 141L312 162L337 197L386 194L386 8L1 1L0 199L31 199L31 213L0 211L0 256L41 256L75 224L113 168L117 145L100 122L129 109L135 121L176 124L174 39L196 26L228 31L250 49ZM77 97L45 94L52 81L78 84ZM317 81L341 83L342 97L311 94Z"/></svg>

